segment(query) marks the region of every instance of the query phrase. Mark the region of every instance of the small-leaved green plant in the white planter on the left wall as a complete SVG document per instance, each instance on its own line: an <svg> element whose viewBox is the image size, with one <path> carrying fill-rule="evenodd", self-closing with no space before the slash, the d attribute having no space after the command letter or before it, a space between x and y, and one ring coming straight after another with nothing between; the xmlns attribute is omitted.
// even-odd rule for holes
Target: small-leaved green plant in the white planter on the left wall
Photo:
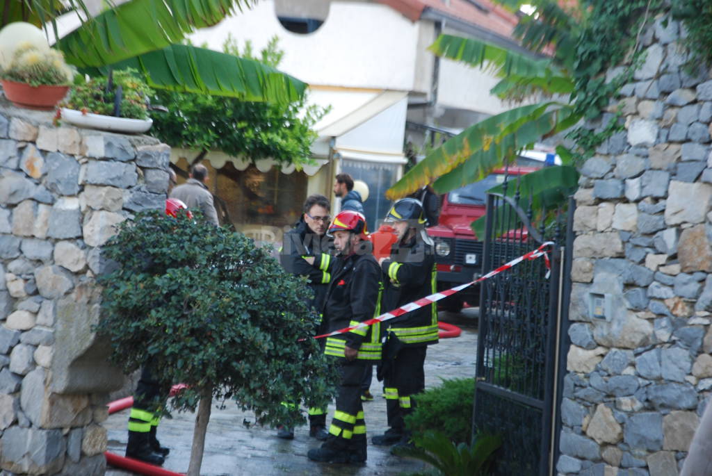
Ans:
<svg viewBox="0 0 712 476"><path fill-rule="evenodd" d="M146 119L148 117L148 100L153 91L136 74L135 70L127 69L112 73L113 88L108 90L108 78L91 78L88 81L75 84L63 107L69 107L83 112L114 114L116 87L121 86L121 117Z"/></svg>

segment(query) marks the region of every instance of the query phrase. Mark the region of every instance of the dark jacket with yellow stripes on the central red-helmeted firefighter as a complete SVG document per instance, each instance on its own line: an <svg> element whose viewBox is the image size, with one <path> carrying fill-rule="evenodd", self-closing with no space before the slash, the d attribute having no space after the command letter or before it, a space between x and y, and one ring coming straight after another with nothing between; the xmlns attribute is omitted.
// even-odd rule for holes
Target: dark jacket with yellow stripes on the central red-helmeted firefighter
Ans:
<svg viewBox="0 0 712 476"><path fill-rule="evenodd" d="M323 257L314 266L323 266ZM331 282L323 308L326 332L351 327L381 310L381 270L373 255L350 255L330 266ZM355 329L326 338L325 354L343 357L346 346L358 349L357 359L377 361L381 358L380 324Z"/></svg>

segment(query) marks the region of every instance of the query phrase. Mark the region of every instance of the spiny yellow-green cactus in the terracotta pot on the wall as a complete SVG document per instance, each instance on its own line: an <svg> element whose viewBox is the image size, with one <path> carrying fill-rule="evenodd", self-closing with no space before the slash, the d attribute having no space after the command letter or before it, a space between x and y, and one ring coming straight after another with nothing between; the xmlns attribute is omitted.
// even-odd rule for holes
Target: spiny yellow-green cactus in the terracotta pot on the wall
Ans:
<svg viewBox="0 0 712 476"><path fill-rule="evenodd" d="M73 76L61 51L42 51L30 44L18 48L8 67L0 71L3 79L31 86L68 85Z"/></svg>

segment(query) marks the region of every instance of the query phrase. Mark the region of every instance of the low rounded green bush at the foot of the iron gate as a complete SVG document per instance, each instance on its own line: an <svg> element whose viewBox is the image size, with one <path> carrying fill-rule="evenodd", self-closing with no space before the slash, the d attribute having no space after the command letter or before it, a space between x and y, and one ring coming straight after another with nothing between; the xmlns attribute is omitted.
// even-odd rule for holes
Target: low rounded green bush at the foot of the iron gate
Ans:
<svg viewBox="0 0 712 476"><path fill-rule="evenodd" d="M427 430L437 430L454 442L469 441L472 434L474 379L443 380L441 386L420 393L415 411L405 418L416 443Z"/></svg>

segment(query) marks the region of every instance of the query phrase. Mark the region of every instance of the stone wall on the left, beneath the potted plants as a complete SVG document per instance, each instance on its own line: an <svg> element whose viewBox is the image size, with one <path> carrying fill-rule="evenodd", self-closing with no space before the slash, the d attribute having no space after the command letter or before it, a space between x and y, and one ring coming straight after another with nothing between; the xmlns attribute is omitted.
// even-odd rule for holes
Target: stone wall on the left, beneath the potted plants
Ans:
<svg viewBox="0 0 712 476"><path fill-rule="evenodd" d="M91 331L98 247L164 206L169 147L52 118L0 100L0 467L102 475L105 403L123 378Z"/></svg>

